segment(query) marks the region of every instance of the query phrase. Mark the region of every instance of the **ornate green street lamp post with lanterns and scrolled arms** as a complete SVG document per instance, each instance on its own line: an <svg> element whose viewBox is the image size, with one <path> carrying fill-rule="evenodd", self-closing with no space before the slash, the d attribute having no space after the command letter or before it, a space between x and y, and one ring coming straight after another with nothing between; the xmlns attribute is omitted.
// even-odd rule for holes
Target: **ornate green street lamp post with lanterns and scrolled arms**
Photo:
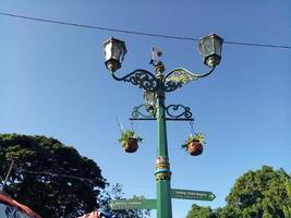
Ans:
<svg viewBox="0 0 291 218"><path fill-rule="evenodd" d="M165 66L157 58L150 61L155 66L155 74L137 69L124 76L117 76L116 71L121 68L121 63L126 53L125 44L122 40L110 38L105 46L105 64L117 81L129 82L144 89L145 104L134 107L131 120L157 120L158 147L156 160L156 183L157 183L157 217L171 218L171 171L168 158L167 145L167 121L193 121L189 107L182 105L169 105L166 107L166 93L171 93L183 84L205 77L213 73L221 59L221 48L223 39L215 34L203 37L199 40L198 50L203 56L204 63L210 68L204 74L194 74L184 68L178 68L163 75ZM155 50L153 51L155 52ZM161 52L157 53L160 56ZM153 57L157 57L153 56ZM144 108L146 114L140 109ZM172 111L180 111L173 114ZM181 112L182 111L182 112Z"/></svg>

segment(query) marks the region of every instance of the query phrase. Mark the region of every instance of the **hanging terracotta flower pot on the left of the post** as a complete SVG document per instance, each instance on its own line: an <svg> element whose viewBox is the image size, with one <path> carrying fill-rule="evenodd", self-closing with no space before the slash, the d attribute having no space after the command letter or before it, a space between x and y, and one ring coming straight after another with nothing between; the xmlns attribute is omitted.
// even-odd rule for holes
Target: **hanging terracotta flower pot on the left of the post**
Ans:
<svg viewBox="0 0 291 218"><path fill-rule="evenodd" d="M135 135L135 132L128 130L121 133L121 137L118 142L122 145L125 153L135 153L138 148L138 142L142 142L143 138Z"/></svg>

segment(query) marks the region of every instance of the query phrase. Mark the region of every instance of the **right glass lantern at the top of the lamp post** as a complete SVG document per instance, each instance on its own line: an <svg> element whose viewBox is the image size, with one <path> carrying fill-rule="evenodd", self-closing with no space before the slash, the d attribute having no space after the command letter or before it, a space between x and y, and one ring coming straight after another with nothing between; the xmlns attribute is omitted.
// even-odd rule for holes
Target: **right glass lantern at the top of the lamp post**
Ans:
<svg viewBox="0 0 291 218"><path fill-rule="evenodd" d="M201 38L198 50L203 56L206 65L214 68L219 64L221 59L223 38L216 34L210 34Z"/></svg>

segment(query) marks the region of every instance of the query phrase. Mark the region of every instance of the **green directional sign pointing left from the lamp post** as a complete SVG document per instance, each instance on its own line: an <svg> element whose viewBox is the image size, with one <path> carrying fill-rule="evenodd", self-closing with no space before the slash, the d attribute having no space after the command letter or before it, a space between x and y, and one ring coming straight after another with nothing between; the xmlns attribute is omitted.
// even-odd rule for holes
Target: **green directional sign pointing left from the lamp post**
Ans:
<svg viewBox="0 0 291 218"><path fill-rule="evenodd" d="M110 202L112 210L157 209L157 199L117 199Z"/></svg>

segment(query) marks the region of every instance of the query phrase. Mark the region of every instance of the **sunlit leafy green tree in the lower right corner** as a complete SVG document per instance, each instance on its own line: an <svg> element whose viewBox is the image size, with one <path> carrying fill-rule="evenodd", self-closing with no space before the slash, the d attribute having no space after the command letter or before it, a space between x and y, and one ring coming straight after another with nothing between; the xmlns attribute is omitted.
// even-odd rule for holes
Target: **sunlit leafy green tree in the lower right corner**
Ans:
<svg viewBox="0 0 291 218"><path fill-rule="evenodd" d="M290 175L282 169L263 166L240 177L221 211L226 218L290 217Z"/></svg>

